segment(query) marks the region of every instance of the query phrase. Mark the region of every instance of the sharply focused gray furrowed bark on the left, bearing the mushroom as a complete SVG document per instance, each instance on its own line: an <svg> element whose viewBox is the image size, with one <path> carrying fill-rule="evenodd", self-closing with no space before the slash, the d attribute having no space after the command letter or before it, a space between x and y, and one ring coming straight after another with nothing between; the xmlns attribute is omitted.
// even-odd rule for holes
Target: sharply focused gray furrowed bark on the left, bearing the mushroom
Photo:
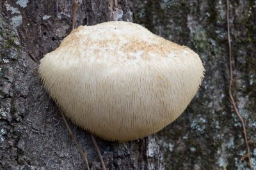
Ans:
<svg viewBox="0 0 256 170"><path fill-rule="evenodd" d="M0 0L0 169L85 169L31 59L42 59L71 31L72 3ZM126 0L117 6L113 1L80 0L77 14L77 25L132 21ZM90 135L70 125L91 169L101 169ZM122 144L97 141L108 169L163 169L153 137Z"/></svg>

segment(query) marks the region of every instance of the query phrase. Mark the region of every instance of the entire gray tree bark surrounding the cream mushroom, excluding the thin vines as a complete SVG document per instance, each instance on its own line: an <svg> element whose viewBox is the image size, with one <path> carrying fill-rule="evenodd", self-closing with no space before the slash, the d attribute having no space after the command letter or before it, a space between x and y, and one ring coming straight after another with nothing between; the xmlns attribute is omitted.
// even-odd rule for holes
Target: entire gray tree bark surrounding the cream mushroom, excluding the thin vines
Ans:
<svg viewBox="0 0 256 170"><path fill-rule="evenodd" d="M26 0L0 0L0 169L84 169L29 57L40 60L67 36L72 1L28 2L24 7ZM112 12L108 7L112 1L80 2L77 25L132 21L127 1L118 1ZM230 5L233 90L245 118L256 169L256 1L236 0ZM246 153L241 122L227 94L225 1L134 0L131 10L134 22L195 50L204 62L205 80L182 116L156 135L124 144L97 139L107 167L162 169L164 160L165 169L248 169L241 160ZM100 169L88 133L74 125L72 129L89 153L90 166Z"/></svg>

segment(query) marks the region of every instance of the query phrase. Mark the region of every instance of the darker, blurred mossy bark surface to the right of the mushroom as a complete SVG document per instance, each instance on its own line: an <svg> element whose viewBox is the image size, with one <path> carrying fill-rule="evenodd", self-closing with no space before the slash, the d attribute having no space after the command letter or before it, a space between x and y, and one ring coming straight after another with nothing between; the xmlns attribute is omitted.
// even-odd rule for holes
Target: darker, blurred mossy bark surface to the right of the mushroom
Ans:
<svg viewBox="0 0 256 170"><path fill-rule="evenodd" d="M241 122L228 101L226 1L133 1L134 22L195 50L205 80L185 113L157 133L166 169L249 169ZM236 79L233 94L245 119L256 169L256 1L230 1Z"/></svg>

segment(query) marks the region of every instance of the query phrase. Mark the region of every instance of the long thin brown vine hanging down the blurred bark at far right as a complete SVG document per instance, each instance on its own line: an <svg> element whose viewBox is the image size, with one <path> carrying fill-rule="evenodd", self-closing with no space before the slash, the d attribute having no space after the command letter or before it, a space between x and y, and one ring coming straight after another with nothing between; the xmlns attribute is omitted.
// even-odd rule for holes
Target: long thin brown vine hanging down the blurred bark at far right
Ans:
<svg viewBox="0 0 256 170"><path fill-rule="evenodd" d="M229 26L229 0L227 0L227 29L228 29L228 50L229 50L229 76L230 76L230 81L229 81L229 87L228 87L228 96L229 96L229 100L230 103L232 104L237 117L239 117L239 119L241 120L241 123L243 125L243 134L244 134L244 140L245 140L245 144L246 144L246 148L247 148L247 154L243 157L244 158L248 158L247 164L250 167L251 170L252 169L252 163L251 163L251 152L250 152L250 147L248 145L248 138L247 138L247 133L246 133L246 126L244 123L244 119L241 116L241 113L239 113L237 106L236 106L236 101L233 97L232 94L232 85L233 85L233 68L232 68L232 48L231 48L231 41L230 41L230 26Z"/></svg>

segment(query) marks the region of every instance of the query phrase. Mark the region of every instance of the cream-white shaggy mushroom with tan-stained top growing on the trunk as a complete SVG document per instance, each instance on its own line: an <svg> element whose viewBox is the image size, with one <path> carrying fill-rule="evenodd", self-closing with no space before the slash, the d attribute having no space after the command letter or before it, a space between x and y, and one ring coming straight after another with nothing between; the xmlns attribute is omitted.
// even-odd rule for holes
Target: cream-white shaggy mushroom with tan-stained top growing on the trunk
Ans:
<svg viewBox="0 0 256 170"><path fill-rule="evenodd" d="M124 142L179 117L202 83L204 66L187 46L115 21L74 29L40 60L39 74L72 122Z"/></svg>

